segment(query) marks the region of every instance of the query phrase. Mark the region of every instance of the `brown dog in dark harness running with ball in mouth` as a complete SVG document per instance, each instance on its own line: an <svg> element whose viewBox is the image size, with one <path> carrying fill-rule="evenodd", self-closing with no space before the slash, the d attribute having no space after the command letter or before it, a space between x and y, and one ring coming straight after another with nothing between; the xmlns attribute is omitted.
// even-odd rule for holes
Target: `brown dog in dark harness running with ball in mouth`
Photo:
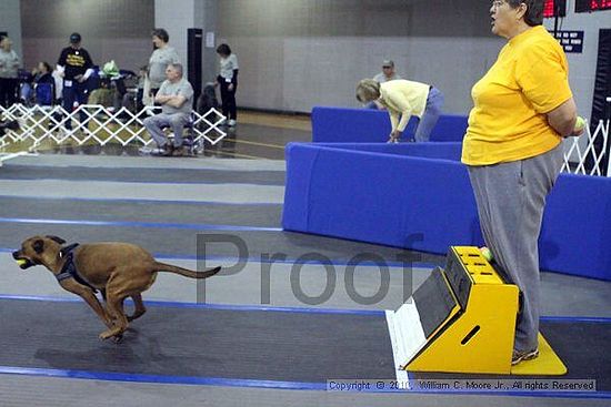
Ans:
<svg viewBox="0 0 611 407"><path fill-rule="evenodd" d="M141 293L153 283L159 272L169 272L191 278L208 278L219 273L221 267L204 272L172 266L157 262L144 248L130 243L91 243L63 247L66 241L57 236L33 236L21 244L21 250L12 257L22 269L34 265L47 267L62 288L80 295L98 314L108 329L100 334L101 339L121 339L128 322L147 312ZM102 307L96 289L102 293L106 308ZM123 301L133 299L133 315L126 316Z"/></svg>

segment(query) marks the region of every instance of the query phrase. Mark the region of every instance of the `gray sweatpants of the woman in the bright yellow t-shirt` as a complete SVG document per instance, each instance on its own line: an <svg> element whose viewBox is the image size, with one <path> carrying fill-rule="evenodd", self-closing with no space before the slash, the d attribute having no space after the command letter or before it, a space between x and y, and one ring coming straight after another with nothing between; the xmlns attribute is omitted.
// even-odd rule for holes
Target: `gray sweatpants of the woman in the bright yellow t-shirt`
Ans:
<svg viewBox="0 0 611 407"><path fill-rule="evenodd" d="M501 274L522 294L517 350L538 347L540 276L538 240L545 197L562 166L563 147L521 161L468 166L483 238Z"/></svg>

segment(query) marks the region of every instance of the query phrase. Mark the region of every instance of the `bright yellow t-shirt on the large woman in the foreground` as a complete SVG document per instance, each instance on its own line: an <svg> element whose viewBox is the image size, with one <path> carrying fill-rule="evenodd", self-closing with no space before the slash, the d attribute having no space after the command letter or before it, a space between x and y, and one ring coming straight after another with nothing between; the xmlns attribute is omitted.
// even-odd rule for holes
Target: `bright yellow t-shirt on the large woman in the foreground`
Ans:
<svg viewBox="0 0 611 407"><path fill-rule="evenodd" d="M558 41L538 26L512 38L471 90L462 162L490 165L532 157L561 142L548 112L572 98Z"/></svg>

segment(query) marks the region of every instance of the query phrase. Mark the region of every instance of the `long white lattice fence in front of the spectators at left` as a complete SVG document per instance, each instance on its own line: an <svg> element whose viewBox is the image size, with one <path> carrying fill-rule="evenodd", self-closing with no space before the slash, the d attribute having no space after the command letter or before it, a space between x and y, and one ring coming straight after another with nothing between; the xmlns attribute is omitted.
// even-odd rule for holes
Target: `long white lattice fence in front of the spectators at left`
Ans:
<svg viewBox="0 0 611 407"><path fill-rule="evenodd" d="M22 104L13 104L9 109L0 106L2 120L18 120L20 130L8 131L4 138L0 139L0 149L10 143L26 143L29 150L39 146L43 141L53 144L61 144L72 141L77 145L119 143L128 145L132 143L149 145L153 140L142 125L142 120L154 114L160 108L147 106L138 113L126 108L118 111L104 108L99 104L83 104L72 112L67 112L61 106L31 108ZM83 115L83 121L79 120ZM217 144L227 133L222 130L221 123L224 116L216 109L204 114L191 113L194 140L197 145L208 142ZM72 129L67 129L71 122Z"/></svg>

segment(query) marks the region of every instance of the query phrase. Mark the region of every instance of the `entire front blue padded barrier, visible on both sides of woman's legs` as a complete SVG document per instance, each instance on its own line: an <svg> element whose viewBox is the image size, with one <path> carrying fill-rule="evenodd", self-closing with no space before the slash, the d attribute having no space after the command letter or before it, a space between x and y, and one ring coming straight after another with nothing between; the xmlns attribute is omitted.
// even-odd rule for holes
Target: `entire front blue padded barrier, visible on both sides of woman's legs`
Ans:
<svg viewBox="0 0 611 407"><path fill-rule="evenodd" d="M481 245L455 144L291 143L282 225L438 254ZM611 281L610 242L611 179L561 174L548 197L541 267Z"/></svg>

